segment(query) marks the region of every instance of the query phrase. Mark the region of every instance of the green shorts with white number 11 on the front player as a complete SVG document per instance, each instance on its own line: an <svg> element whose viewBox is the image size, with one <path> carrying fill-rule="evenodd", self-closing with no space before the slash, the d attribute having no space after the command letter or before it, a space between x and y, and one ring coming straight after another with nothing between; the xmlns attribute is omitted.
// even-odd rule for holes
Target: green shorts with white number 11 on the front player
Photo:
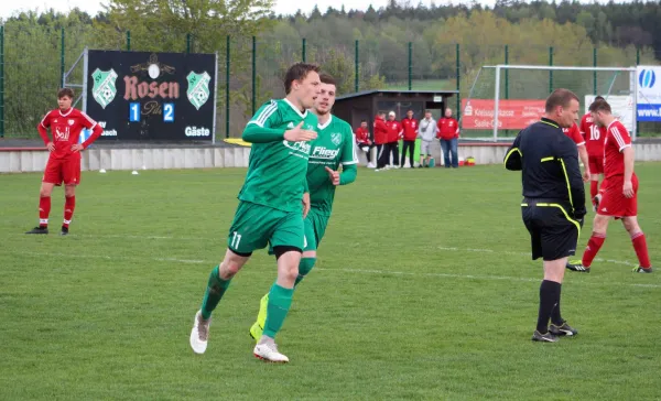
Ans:
<svg viewBox="0 0 661 401"><path fill-rule="evenodd" d="M303 214L239 202L229 228L227 247L235 253L252 253L268 245L304 248Z"/></svg>

